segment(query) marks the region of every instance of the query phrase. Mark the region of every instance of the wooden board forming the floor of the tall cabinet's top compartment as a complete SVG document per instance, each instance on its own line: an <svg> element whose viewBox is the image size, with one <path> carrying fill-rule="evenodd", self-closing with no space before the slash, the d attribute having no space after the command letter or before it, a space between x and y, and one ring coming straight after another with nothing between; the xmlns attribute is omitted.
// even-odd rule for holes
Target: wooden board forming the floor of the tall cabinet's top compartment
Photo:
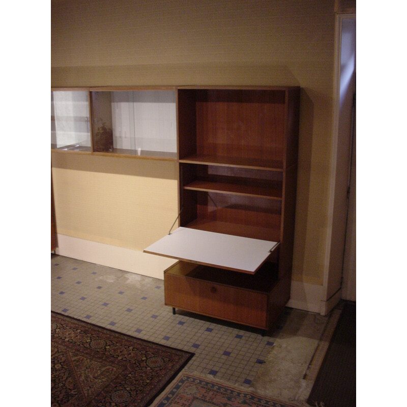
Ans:
<svg viewBox="0 0 407 407"><path fill-rule="evenodd" d="M223 165L228 167L243 167L252 169L267 169L270 171L283 171L283 162L278 160L265 160L259 158L212 156L194 154L184 157L180 162L190 164Z"/></svg>

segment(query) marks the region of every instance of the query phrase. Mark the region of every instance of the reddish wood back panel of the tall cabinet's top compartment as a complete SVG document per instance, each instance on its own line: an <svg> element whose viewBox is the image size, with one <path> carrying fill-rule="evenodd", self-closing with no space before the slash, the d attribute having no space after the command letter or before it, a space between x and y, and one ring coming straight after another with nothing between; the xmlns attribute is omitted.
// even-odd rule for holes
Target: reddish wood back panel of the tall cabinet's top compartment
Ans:
<svg viewBox="0 0 407 407"><path fill-rule="evenodd" d="M282 160L284 98L284 91L198 91L197 154Z"/></svg>

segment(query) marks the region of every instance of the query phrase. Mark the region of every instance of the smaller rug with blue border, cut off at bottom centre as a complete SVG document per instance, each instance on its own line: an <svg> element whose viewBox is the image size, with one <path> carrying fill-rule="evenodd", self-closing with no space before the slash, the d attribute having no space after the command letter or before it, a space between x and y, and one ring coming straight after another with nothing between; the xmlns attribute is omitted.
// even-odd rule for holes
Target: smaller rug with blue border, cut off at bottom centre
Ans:
<svg viewBox="0 0 407 407"><path fill-rule="evenodd" d="M296 407L219 382L181 373L152 407Z"/></svg>

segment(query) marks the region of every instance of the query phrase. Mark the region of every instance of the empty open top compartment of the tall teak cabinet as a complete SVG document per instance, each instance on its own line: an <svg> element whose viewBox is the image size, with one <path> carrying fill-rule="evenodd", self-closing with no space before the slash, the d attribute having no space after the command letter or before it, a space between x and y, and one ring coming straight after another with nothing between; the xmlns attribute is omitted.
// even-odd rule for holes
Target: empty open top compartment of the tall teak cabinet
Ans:
<svg viewBox="0 0 407 407"><path fill-rule="evenodd" d="M286 89L179 89L180 162L282 170Z"/></svg>

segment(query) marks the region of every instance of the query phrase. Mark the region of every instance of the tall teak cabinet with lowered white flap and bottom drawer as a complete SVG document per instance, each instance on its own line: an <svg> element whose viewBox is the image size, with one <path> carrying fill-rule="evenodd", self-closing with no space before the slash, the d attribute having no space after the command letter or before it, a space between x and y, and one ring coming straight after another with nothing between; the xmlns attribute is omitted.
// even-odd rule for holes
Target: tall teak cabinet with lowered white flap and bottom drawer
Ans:
<svg viewBox="0 0 407 407"><path fill-rule="evenodd" d="M297 87L178 89L176 231L270 241L272 249L256 270L225 270L224 262L217 267L193 254L179 256L164 273L165 303L174 312L180 308L268 330L289 300L299 100ZM165 237L145 251L177 258L159 247L168 242ZM232 248L224 251L234 255Z"/></svg>

